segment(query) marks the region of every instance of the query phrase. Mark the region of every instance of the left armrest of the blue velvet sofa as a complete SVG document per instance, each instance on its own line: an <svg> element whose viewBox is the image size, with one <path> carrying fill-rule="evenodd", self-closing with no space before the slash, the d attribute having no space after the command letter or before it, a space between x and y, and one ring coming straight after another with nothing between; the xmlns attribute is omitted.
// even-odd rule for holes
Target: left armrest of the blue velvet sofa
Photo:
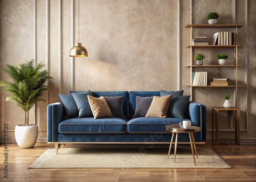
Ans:
<svg viewBox="0 0 256 182"><path fill-rule="evenodd" d="M47 106L47 142L58 141L58 125L63 120L65 112L62 102Z"/></svg>

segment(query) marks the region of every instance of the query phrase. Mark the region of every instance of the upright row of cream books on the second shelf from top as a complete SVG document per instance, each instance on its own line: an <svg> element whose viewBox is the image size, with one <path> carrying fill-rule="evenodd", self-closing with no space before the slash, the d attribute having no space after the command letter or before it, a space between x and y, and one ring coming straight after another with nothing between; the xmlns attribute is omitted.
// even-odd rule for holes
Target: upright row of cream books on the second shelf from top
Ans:
<svg viewBox="0 0 256 182"><path fill-rule="evenodd" d="M212 45L234 45L234 33L232 32L216 32L212 38Z"/></svg>

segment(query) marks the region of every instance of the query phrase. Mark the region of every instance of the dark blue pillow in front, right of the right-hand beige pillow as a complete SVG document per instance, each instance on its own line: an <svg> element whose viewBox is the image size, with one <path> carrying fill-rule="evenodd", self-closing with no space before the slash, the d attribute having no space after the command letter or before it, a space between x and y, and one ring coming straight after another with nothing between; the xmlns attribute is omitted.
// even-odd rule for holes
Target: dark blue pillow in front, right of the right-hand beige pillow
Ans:
<svg viewBox="0 0 256 182"><path fill-rule="evenodd" d="M189 98L190 95L173 95L167 111L167 117L183 119Z"/></svg>

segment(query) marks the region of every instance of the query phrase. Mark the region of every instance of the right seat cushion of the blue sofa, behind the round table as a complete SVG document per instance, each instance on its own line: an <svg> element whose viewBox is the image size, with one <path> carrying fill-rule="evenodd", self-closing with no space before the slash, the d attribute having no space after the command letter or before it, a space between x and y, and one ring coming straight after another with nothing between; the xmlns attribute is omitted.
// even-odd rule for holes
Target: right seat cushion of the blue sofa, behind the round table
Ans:
<svg viewBox="0 0 256 182"><path fill-rule="evenodd" d="M165 133L166 125L169 124L178 124L180 121L188 119L179 119L179 118L134 118L127 122L127 132L128 133ZM194 125L193 122L191 124Z"/></svg>

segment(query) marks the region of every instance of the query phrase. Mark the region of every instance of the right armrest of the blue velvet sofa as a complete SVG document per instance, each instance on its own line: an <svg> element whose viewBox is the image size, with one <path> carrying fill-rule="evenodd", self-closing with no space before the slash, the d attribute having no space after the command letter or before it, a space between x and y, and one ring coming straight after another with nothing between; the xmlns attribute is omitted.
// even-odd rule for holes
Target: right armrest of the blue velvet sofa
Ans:
<svg viewBox="0 0 256 182"><path fill-rule="evenodd" d="M193 102L188 101L187 111L186 111L186 118L193 121L196 126L201 127L201 139L202 141L206 141L206 133L207 133L207 120L206 120L206 106Z"/></svg>

